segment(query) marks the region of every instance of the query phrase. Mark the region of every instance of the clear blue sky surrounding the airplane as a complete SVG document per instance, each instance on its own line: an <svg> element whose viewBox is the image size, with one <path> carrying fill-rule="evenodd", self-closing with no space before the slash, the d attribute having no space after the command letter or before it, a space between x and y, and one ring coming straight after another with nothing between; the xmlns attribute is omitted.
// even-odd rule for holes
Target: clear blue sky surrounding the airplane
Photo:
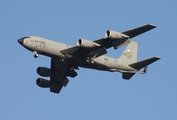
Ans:
<svg viewBox="0 0 177 120"><path fill-rule="evenodd" d="M176 120L176 0L1 0L1 120ZM146 75L129 81L120 73L81 68L60 94L39 88L38 66L50 58L33 53L17 40L35 35L69 45L95 40L106 30L126 31L144 24L157 28L132 40L138 59L159 56ZM108 50L118 58L124 48Z"/></svg>

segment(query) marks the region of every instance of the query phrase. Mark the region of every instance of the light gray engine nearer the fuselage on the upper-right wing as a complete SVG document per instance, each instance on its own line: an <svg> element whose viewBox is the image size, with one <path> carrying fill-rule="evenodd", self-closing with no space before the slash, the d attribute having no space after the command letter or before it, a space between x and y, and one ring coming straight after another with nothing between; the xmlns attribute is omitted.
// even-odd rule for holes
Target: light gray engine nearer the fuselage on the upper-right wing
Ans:
<svg viewBox="0 0 177 120"><path fill-rule="evenodd" d="M85 48L93 48L96 46L100 46L100 44L85 39L79 39L77 41L77 45Z"/></svg>

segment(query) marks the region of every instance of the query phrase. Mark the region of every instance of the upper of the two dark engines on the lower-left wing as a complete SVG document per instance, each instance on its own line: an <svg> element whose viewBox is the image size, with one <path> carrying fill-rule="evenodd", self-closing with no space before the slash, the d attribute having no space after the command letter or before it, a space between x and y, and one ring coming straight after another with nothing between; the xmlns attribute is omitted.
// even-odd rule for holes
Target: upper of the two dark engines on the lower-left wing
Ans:
<svg viewBox="0 0 177 120"><path fill-rule="evenodd" d="M38 67L37 73L43 77L50 77L53 75L53 71L49 68L46 68L46 67Z"/></svg>

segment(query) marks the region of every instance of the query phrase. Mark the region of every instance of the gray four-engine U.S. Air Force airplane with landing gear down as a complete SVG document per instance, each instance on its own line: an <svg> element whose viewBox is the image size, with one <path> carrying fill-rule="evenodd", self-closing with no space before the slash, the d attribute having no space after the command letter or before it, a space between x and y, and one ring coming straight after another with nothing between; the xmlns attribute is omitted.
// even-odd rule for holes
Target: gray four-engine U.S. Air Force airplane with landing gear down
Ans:
<svg viewBox="0 0 177 120"><path fill-rule="evenodd" d="M147 24L125 32L107 30L104 38L94 41L79 39L76 46L37 36L26 36L18 39L18 42L34 52L35 58L39 54L51 57L50 68L37 68L38 75L50 77L50 80L37 78L36 84L42 88L50 88L53 93L59 93L62 87L68 84L67 77L77 76L75 70L79 70L79 67L120 72L125 80L129 80L136 73L145 74L147 66L160 58L151 57L137 62L138 43L130 39L155 27ZM118 49L124 45L127 47L118 59L104 56L107 53L106 49L110 47ZM141 70L143 68L144 70Z"/></svg>

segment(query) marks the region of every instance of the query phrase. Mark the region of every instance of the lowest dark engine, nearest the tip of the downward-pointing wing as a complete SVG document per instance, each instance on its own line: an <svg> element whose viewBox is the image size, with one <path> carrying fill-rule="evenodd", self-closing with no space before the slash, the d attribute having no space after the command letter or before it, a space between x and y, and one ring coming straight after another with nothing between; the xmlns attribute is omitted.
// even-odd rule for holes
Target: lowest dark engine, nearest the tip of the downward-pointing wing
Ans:
<svg viewBox="0 0 177 120"><path fill-rule="evenodd" d="M39 87L42 87L42 88L49 88L51 83L49 80L46 80L46 79L43 79L43 78L38 78L36 80L36 84L39 86Z"/></svg>

